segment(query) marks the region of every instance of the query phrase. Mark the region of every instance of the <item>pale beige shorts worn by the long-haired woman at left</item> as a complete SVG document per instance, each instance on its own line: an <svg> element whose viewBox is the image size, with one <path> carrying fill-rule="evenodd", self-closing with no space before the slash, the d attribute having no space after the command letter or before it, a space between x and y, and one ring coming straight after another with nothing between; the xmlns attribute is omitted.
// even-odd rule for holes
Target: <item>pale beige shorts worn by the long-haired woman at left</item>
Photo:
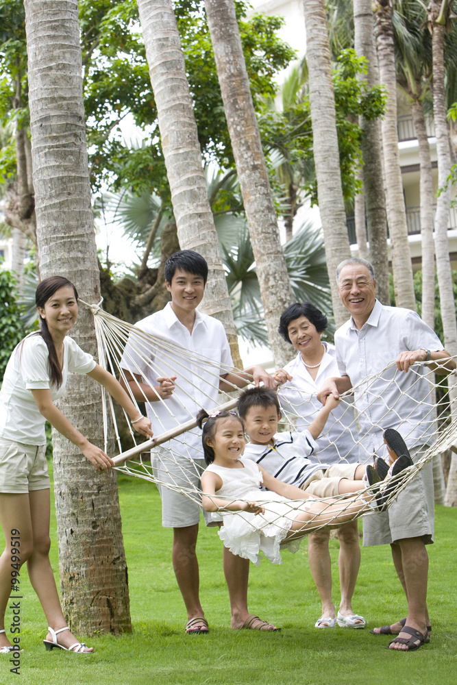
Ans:
<svg viewBox="0 0 457 685"><path fill-rule="evenodd" d="M23 495L49 490L46 445L24 445L0 438L0 493Z"/></svg>

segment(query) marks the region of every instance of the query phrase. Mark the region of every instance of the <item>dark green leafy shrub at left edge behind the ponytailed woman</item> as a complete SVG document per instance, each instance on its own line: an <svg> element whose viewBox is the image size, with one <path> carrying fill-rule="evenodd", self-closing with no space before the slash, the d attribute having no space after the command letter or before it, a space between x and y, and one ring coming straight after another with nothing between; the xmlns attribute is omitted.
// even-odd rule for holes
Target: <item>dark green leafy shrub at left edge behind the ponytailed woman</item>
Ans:
<svg viewBox="0 0 457 685"><path fill-rule="evenodd" d="M14 347L22 340L21 308L16 303L16 280L10 271L0 269L0 377Z"/></svg>

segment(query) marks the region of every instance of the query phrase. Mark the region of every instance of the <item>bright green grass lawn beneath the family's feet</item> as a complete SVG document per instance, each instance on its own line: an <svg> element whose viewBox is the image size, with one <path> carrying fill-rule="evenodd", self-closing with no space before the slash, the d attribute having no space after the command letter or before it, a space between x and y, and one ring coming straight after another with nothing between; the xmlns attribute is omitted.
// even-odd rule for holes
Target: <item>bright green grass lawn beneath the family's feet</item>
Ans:
<svg viewBox="0 0 457 685"><path fill-rule="evenodd" d="M45 651L46 623L21 573L23 646L21 675L0 655L0 683L63 685L454 685L457 683L457 533L455 509L437 508L436 539L430 546L429 604L433 634L412 653L384 649L387 636L369 629L405 615L388 547L362 549L354 610L365 630L316 630L320 603L307 560L306 540L282 566L251 565L251 612L282 626L280 633L230 630L222 571L222 543L214 528L201 527L201 597L210 634L185 635L184 605L171 569L171 530L160 526L156 487L119 475L123 535L129 569L133 634L84 638L91 655ZM51 562L58 569L55 519ZM332 540L334 601L338 599L338 543ZM81 636L82 637L82 636Z"/></svg>

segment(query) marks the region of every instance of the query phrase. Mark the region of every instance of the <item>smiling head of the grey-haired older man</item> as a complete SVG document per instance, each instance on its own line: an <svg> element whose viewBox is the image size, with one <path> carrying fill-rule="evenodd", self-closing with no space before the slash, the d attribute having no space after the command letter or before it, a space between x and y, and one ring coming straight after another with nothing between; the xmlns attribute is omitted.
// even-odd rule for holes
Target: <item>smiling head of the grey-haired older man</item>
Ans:
<svg viewBox="0 0 457 685"><path fill-rule="evenodd" d="M366 266L348 264L341 269L338 295L360 329L369 319L376 299L376 282Z"/></svg>

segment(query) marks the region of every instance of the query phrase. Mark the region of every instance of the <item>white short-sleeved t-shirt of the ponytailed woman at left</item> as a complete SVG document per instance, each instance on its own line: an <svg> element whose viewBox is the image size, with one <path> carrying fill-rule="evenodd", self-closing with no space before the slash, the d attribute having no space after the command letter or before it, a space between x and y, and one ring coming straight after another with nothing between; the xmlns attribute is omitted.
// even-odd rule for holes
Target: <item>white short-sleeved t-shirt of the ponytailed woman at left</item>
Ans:
<svg viewBox="0 0 457 685"><path fill-rule="evenodd" d="M32 390L51 390L52 401L65 393L69 371L89 373L95 369L92 356L73 338L64 339L62 385L57 390L49 380L49 352L45 340L30 334L16 345L6 366L0 391L0 438L25 445L45 445L45 417L40 414Z"/></svg>

